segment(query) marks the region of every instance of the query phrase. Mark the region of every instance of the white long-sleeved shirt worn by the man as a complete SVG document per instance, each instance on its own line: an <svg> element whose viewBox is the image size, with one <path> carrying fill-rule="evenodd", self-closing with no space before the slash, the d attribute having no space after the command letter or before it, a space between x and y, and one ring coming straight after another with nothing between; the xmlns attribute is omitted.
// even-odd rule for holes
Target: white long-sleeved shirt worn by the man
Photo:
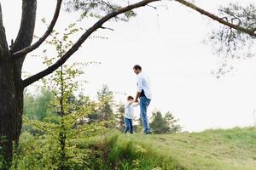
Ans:
<svg viewBox="0 0 256 170"><path fill-rule="evenodd" d="M137 75L137 92L142 93L142 91L144 91L146 98L151 99L152 94L150 86L151 85L148 76L145 75L143 71L140 72Z"/></svg>

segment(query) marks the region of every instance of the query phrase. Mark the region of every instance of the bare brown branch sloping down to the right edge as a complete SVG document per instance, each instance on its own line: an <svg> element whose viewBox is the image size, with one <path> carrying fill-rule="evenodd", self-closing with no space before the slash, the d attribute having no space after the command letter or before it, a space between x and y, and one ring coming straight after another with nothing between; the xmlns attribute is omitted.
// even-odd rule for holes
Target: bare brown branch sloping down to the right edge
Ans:
<svg viewBox="0 0 256 170"><path fill-rule="evenodd" d="M175 0L175 1L177 1L178 3L182 3L183 5L185 5L185 6L189 7L189 8L194 9L195 11L197 11L197 12L199 12L201 14L206 15L207 17L211 18L212 20L216 20L216 21L218 21L219 23L221 23L221 24L223 24L225 26L229 26L230 28L233 28L233 29L235 29L237 31L241 31L241 32L244 32L244 33L252 36L252 37L256 37L256 33L254 33L253 30L249 30L249 29L241 27L239 25L234 25L234 24L232 24L232 23L230 23L230 22L228 22L228 21L218 17L215 14L211 14L211 13L207 12L206 10L195 6L195 4L193 4L193 3L189 3L189 2L187 2L185 0Z"/></svg>

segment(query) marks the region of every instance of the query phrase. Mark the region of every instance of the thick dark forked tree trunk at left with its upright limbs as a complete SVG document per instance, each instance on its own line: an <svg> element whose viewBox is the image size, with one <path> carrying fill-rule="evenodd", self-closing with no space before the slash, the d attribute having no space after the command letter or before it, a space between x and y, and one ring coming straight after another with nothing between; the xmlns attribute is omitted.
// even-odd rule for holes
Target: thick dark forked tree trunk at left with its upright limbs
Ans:
<svg viewBox="0 0 256 170"><path fill-rule="evenodd" d="M36 9L37 0L22 0L20 31L9 50L0 3L0 169L11 166L13 146L18 145L22 124L24 86L21 70L26 54L14 59L11 53L31 44Z"/></svg>

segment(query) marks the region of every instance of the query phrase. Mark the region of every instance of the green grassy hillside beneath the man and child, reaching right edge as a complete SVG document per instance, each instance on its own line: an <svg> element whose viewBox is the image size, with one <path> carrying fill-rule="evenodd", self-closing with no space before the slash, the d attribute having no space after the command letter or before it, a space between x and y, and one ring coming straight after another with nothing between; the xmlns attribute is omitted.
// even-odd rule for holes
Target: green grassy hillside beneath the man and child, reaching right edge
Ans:
<svg viewBox="0 0 256 170"><path fill-rule="evenodd" d="M256 170L253 127L164 135L114 132L96 144L104 169Z"/></svg>

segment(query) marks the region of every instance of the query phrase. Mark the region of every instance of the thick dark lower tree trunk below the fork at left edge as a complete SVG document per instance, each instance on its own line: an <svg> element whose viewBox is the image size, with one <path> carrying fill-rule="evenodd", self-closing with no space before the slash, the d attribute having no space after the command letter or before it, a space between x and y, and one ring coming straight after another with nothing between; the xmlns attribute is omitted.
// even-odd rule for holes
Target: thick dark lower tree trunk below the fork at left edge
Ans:
<svg viewBox="0 0 256 170"><path fill-rule="evenodd" d="M18 144L23 106L23 89L16 82L15 65L10 61L1 61L0 65L0 153L5 168L10 165L13 144ZM18 75L16 75L18 76ZM4 167L3 167L4 168Z"/></svg>

